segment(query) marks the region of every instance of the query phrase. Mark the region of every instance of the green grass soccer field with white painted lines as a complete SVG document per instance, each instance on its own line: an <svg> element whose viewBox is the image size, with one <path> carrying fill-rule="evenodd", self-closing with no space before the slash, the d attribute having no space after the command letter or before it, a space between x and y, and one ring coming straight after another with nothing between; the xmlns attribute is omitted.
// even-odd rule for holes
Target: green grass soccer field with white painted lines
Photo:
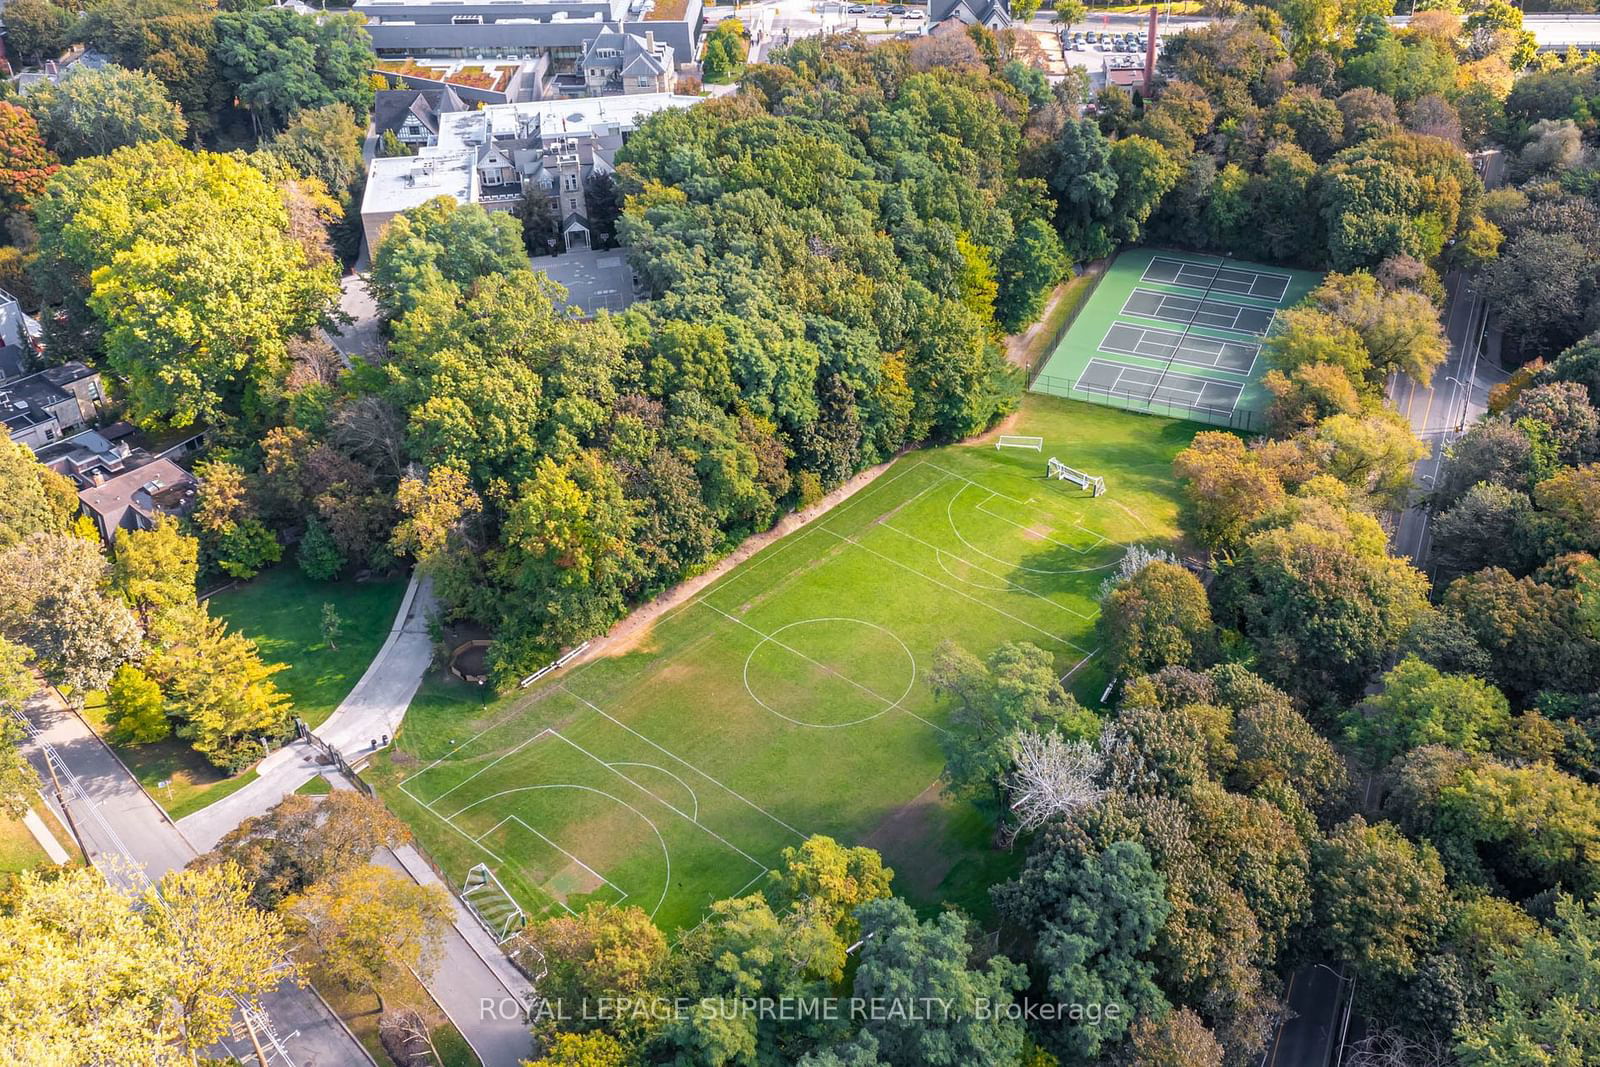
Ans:
<svg viewBox="0 0 1600 1067"><path fill-rule="evenodd" d="M934 649L1032 641L1093 704L1096 592L1125 545L1176 536L1197 427L1029 397L1010 429L1042 451L912 453L621 653L491 704L432 681L374 781L458 885L485 864L530 917L693 925L811 833L878 848L920 905L986 912L1014 857L938 787ZM1106 494L1046 480L1051 456Z"/></svg>

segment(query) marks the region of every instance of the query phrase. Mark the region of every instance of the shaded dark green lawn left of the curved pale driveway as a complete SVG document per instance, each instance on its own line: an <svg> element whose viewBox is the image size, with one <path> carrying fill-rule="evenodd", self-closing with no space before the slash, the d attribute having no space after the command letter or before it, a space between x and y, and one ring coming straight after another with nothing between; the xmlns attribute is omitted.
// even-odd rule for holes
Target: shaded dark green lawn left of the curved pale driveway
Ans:
<svg viewBox="0 0 1600 1067"><path fill-rule="evenodd" d="M405 585L403 577L314 582L285 565L213 595L210 603L211 614L254 638L262 659L288 664L274 681L294 699L296 715L320 726L389 638ZM344 619L338 648L322 640L325 603Z"/></svg>

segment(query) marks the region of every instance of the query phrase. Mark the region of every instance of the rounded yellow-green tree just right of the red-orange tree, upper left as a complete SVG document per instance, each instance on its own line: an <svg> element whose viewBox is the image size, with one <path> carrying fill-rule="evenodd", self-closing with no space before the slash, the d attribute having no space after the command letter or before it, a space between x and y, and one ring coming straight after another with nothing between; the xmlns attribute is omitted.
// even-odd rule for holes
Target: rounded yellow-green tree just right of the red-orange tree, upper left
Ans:
<svg viewBox="0 0 1600 1067"><path fill-rule="evenodd" d="M146 141L182 141L187 130L166 86L117 64L74 70L24 99L45 141L67 163Z"/></svg>

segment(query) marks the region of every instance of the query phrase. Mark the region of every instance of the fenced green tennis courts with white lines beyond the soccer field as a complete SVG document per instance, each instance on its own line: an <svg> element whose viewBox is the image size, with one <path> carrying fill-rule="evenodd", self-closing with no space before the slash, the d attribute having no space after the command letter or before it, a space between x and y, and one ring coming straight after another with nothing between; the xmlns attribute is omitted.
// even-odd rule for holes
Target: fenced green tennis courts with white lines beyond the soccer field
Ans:
<svg viewBox="0 0 1600 1067"><path fill-rule="evenodd" d="M1261 354L1277 312L1322 282L1310 270L1130 248L1117 256L1034 392L1261 429Z"/></svg>

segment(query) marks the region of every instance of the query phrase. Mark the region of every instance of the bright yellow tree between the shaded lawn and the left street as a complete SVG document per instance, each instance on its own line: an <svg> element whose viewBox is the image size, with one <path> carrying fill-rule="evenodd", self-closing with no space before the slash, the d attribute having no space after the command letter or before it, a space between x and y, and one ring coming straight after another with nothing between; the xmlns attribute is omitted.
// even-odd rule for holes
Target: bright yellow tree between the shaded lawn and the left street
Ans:
<svg viewBox="0 0 1600 1067"><path fill-rule="evenodd" d="M150 632L146 669L166 693L178 736L229 771L261 755L262 737L288 728L290 697L272 681L283 664L266 665L256 643L229 632L205 605L184 605Z"/></svg>

